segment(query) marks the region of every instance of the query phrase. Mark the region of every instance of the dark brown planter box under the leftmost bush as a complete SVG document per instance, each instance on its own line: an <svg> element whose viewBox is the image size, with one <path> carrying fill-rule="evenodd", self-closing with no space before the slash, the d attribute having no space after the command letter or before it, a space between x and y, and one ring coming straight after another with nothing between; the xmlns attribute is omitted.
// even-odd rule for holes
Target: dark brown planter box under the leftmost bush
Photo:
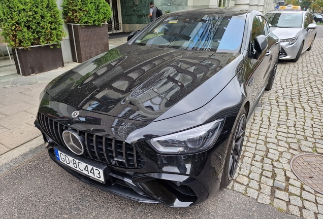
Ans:
<svg viewBox="0 0 323 219"><path fill-rule="evenodd" d="M50 48L54 46L54 48ZM12 49L18 75L29 76L64 67L61 48L55 45L31 46L30 50Z"/></svg>

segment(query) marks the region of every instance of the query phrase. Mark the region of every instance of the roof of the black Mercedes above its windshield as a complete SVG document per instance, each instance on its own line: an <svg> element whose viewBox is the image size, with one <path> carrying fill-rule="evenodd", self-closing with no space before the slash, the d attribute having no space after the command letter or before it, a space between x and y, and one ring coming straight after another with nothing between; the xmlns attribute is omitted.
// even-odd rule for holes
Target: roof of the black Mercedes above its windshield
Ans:
<svg viewBox="0 0 323 219"><path fill-rule="evenodd" d="M167 15L180 15L180 14L225 14L229 16L246 16L248 12L254 10L246 10L236 7L228 8L200 8L200 9L189 9L183 11L172 12Z"/></svg>

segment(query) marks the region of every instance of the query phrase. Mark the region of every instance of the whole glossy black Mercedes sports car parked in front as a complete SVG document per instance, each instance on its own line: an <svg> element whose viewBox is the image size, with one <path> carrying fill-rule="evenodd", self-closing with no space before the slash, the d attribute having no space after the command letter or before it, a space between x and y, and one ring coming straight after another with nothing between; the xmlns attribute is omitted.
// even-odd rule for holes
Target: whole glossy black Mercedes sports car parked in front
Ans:
<svg viewBox="0 0 323 219"><path fill-rule="evenodd" d="M54 79L35 125L51 159L128 199L199 204L230 184L280 43L257 11L161 16Z"/></svg>

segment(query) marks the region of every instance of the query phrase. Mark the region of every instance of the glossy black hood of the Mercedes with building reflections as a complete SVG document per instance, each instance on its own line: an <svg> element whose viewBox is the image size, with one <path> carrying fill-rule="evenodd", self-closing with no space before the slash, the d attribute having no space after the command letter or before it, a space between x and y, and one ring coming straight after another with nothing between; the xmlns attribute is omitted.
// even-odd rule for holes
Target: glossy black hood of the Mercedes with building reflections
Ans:
<svg viewBox="0 0 323 219"><path fill-rule="evenodd" d="M239 63L224 70L239 55L124 44L54 79L47 93L87 111L153 122L210 101L236 74Z"/></svg>

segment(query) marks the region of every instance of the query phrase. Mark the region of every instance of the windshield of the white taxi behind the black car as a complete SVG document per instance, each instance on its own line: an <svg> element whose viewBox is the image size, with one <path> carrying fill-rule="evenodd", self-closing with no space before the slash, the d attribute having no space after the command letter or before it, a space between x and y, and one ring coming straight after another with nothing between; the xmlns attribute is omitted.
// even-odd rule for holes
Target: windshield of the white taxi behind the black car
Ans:
<svg viewBox="0 0 323 219"><path fill-rule="evenodd" d="M303 14L268 13L265 17L273 27L301 28L303 25Z"/></svg>

